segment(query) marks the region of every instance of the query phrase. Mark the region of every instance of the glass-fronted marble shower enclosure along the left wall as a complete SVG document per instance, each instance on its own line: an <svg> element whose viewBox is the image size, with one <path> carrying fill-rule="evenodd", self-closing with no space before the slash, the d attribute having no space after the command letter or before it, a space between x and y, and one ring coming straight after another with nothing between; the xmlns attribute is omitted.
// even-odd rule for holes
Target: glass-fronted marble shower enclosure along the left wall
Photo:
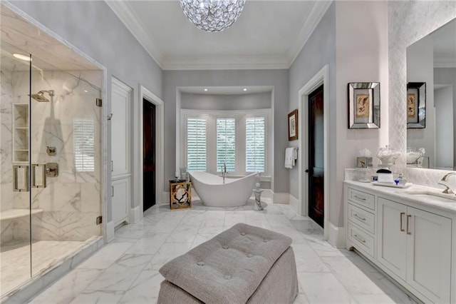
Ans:
<svg viewBox="0 0 456 304"><path fill-rule="evenodd" d="M4 29L2 29L3 31ZM7 29L6 29L7 30ZM1 40L3 298L102 235L100 71Z"/></svg>

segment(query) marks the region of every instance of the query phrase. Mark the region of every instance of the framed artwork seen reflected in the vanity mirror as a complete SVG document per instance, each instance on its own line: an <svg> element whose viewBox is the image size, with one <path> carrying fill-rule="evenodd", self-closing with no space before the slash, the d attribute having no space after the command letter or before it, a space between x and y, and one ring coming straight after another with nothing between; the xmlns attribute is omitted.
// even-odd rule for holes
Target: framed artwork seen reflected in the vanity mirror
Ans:
<svg viewBox="0 0 456 304"><path fill-rule="evenodd" d="M426 127L426 83L407 83L407 128Z"/></svg>

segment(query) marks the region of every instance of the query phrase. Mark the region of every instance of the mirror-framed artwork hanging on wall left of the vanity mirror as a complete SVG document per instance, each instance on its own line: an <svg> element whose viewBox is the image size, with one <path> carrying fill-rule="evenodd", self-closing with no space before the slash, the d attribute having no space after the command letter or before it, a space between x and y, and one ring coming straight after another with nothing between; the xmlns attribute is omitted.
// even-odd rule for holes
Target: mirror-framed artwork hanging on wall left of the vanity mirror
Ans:
<svg viewBox="0 0 456 304"><path fill-rule="evenodd" d="M348 128L380 128L380 83L348 83Z"/></svg>

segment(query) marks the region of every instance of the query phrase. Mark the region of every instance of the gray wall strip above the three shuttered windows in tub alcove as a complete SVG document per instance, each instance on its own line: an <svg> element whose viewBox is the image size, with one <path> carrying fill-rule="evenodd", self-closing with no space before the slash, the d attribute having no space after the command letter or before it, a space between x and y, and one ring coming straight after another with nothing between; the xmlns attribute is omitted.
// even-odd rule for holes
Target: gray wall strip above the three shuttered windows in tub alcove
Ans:
<svg viewBox="0 0 456 304"><path fill-rule="evenodd" d="M181 93L180 108L220 111L271 108L271 92L242 95Z"/></svg>

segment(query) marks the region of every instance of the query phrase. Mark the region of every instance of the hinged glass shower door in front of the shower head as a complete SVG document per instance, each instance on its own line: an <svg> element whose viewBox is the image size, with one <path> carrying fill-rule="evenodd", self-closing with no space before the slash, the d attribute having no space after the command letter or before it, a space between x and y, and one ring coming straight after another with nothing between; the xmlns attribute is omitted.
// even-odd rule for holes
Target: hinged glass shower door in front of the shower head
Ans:
<svg viewBox="0 0 456 304"><path fill-rule="evenodd" d="M36 56L31 71L32 276L101 235L100 88ZM36 211L36 213L35 213Z"/></svg>

